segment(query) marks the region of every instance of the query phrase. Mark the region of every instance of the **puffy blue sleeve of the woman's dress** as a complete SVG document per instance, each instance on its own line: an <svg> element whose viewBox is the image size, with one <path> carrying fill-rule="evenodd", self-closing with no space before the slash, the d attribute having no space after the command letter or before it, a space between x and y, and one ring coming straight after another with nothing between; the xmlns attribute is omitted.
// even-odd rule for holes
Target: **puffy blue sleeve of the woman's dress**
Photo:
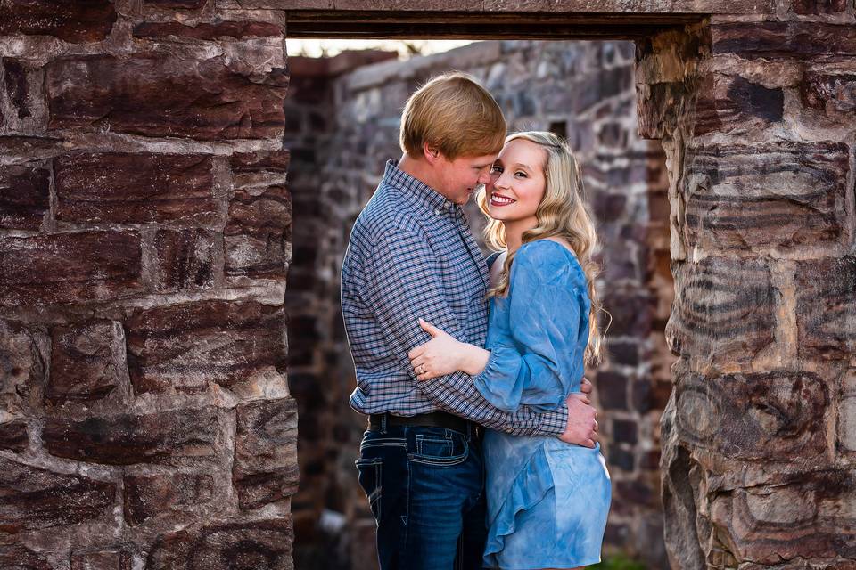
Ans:
<svg viewBox="0 0 856 570"><path fill-rule="evenodd" d="M564 402L571 375L579 370L574 364L583 356L579 334L585 290L580 265L569 264L553 244L520 248L509 294L497 299L508 304L508 329L491 337L488 363L473 377L488 402L508 412L522 405L553 410Z"/></svg>

